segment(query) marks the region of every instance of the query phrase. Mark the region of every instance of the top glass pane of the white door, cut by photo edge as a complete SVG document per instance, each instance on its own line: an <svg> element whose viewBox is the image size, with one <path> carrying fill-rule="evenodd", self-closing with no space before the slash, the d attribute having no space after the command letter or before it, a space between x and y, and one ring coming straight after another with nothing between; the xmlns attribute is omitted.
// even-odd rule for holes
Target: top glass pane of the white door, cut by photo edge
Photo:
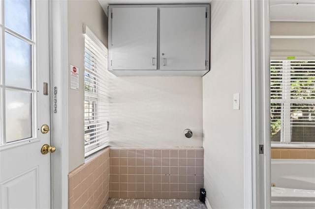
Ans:
<svg viewBox="0 0 315 209"><path fill-rule="evenodd" d="M31 0L5 0L5 26L31 39L32 37Z"/></svg>

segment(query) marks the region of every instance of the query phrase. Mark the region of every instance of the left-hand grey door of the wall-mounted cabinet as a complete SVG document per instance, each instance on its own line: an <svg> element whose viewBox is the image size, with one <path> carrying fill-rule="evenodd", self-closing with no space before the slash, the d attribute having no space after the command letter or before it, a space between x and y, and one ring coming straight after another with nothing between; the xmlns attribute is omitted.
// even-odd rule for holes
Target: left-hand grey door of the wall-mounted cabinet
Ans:
<svg viewBox="0 0 315 209"><path fill-rule="evenodd" d="M156 70L158 8L112 9L109 69Z"/></svg>

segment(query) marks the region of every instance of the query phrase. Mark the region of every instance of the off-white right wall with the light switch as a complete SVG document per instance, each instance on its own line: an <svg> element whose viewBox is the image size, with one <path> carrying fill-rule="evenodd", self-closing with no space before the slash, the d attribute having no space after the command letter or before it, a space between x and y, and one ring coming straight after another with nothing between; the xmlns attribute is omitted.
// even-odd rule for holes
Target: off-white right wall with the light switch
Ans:
<svg viewBox="0 0 315 209"><path fill-rule="evenodd" d="M244 209L243 3L211 2L211 71L203 77L204 182L213 209ZM240 92L240 110L233 94Z"/></svg>

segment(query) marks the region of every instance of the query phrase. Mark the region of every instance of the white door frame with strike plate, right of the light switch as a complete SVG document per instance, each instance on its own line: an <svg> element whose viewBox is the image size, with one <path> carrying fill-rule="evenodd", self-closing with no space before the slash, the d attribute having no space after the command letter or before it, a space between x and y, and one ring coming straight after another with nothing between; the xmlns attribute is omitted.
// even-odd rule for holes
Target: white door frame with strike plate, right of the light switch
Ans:
<svg viewBox="0 0 315 209"><path fill-rule="evenodd" d="M243 15L244 208L270 209L269 0L243 0Z"/></svg>

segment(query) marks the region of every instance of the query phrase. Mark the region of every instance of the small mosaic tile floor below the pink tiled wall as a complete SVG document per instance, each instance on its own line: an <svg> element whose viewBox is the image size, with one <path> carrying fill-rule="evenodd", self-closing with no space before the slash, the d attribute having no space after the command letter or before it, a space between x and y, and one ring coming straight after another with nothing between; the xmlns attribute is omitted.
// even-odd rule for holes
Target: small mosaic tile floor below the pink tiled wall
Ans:
<svg viewBox="0 0 315 209"><path fill-rule="evenodd" d="M207 209L199 200L110 198L103 209Z"/></svg>

